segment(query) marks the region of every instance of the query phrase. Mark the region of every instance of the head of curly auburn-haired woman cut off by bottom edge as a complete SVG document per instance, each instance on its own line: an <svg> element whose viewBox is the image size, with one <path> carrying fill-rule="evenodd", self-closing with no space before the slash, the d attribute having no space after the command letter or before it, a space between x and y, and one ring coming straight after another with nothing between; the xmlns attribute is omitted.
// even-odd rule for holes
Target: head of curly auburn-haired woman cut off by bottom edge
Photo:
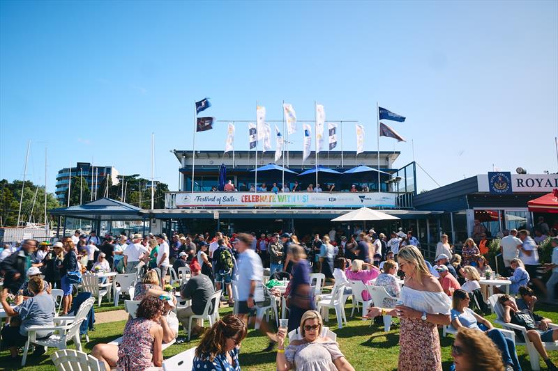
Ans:
<svg viewBox="0 0 558 371"><path fill-rule="evenodd" d="M455 371L502 371L500 352L488 336L481 331L462 327L451 347L452 370Z"/></svg>

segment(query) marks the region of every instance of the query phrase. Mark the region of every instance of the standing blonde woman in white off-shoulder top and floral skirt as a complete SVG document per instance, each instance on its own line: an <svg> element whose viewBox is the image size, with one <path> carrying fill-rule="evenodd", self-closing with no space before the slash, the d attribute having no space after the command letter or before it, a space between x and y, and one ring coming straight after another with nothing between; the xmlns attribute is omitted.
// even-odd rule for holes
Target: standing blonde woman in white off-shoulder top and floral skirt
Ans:
<svg viewBox="0 0 558 371"><path fill-rule="evenodd" d="M400 318L398 370L442 371L442 352L437 325L451 323L451 303L442 285L430 274L421 251L405 246L398 254L405 272L400 306L395 309L372 307L367 317L392 315Z"/></svg>

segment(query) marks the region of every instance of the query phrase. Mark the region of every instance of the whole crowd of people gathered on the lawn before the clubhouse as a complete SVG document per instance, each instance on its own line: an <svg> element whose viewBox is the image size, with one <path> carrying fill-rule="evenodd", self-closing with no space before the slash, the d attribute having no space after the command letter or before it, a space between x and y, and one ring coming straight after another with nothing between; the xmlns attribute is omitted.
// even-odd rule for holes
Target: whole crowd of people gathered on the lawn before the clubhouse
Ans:
<svg viewBox="0 0 558 371"><path fill-rule="evenodd" d="M492 277L492 269L474 239L467 240L458 255L448 236L442 235L432 263L423 258L418 246L413 231L400 229L390 232L388 238L373 228L368 232L356 228L349 236L331 228L323 235L306 235L301 240L282 231L262 233L259 238L253 232L230 236L216 232L212 236L122 234L101 239L95 232L84 235L81 230L52 246L27 239L9 254L0 255L4 288L0 301L6 313L17 318L1 334L11 356L17 357L29 326L52 324L54 301L47 295L52 288L63 290L61 315L65 315L72 306L71 278L76 271L117 271L142 276L133 297L141 302L135 318L126 324L120 345L99 344L93 348L92 355L107 369L160 366L162 345L178 336L179 324L188 329L190 317L201 315L211 296L222 290L219 305L235 306L236 315L226 315L209 331L194 327L193 334L201 337L195 370L240 370L239 346L246 337L248 319L255 317L269 295L284 296L289 310L286 328L276 331L259 321L260 331L269 338L266 350L277 349L278 370L354 370L338 343L322 333L323 319L316 311L319 297L310 281L310 274L315 272L324 274L329 283L345 283L347 296L352 294L349 281L386 289L390 297L373 305L368 290L361 292L369 305L363 319L379 319L382 315L400 319L400 370L442 370L438 327L448 325L458 331L452 347L455 370L521 370L515 345L482 317L486 308L477 308L477 313L472 310L474 297L484 303L492 294L481 287L481 278ZM515 255L508 251L511 246ZM545 269L553 273L545 286L534 281L540 266L533 268L538 259L534 260L536 243L529 232L511 230L502 239L509 274L500 279L511 281L509 292L519 294L521 299L515 301L504 295L500 303L505 308L504 320L525 326L549 370L556 370L542 343L557 340L558 331L549 329L550 320L534 313L537 299L529 288L544 288L547 301L552 302L558 271L557 237L552 239L552 246L552 263ZM191 276L178 290L180 299L191 300L191 305L176 310L176 297L165 290L165 280L171 269L178 271L186 266ZM160 269L160 276L155 268ZM287 290L267 290L264 269L269 269L269 278L288 277ZM405 280L402 287L400 279ZM8 304L10 295L17 306ZM294 329L299 329L301 338L286 346L286 335ZM37 347L36 352L44 349Z"/></svg>

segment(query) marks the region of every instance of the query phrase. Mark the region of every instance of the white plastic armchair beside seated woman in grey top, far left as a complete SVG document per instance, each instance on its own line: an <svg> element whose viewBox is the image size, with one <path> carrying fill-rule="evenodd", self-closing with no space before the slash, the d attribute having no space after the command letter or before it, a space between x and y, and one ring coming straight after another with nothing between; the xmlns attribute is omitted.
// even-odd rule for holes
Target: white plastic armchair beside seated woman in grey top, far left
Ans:
<svg viewBox="0 0 558 371"><path fill-rule="evenodd" d="M54 317L54 325L45 326L30 326L27 334L27 342L23 349L22 366L27 361L27 353L29 352L29 345L31 343L42 345L43 347L56 347L58 349L66 349L66 344L73 340L77 350L82 350L82 342L80 339L80 324L84 321L89 313L89 310L95 303L94 298L89 298L82 303L80 308L77 309L75 317ZM68 322L66 324L66 322ZM63 324L61 324L63 323ZM37 331L56 331L48 338L37 339Z"/></svg>

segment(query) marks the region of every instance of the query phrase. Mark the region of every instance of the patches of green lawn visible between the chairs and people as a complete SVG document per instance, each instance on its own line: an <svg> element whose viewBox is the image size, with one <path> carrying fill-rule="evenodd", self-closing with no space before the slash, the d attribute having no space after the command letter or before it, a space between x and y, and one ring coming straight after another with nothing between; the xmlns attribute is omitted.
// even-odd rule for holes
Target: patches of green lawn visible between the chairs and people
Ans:
<svg viewBox="0 0 558 371"><path fill-rule="evenodd" d="M347 306L347 309L349 306ZM98 308L95 308L97 311ZM220 314L225 315L230 313L232 308L221 308ZM537 305L536 311L544 317L552 319L553 322L558 323L557 308L550 308L549 306ZM330 328L337 333L337 340L340 349L345 354L347 360L353 365L355 370L396 370L398 364L399 354L399 329L393 328L388 333L384 333L384 326L373 324L369 327L369 321L361 321L360 317L350 318L350 310L347 312L347 319L349 320L348 326L343 326L342 329L336 329L336 320L333 310L330 311L329 325ZM490 321L496 319L496 315L489 315L487 318ZM397 321L397 319L395 319ZM95 331L89 333L90 342L82 344L85 352L91 352L94 345L100 342L110 342L115 338L122 335L125 321L111 322L107 324L99 324L96 326ZM440 331L441 333L441 331ZM183 337L184 333L181 330L179 336ZM199 342L198 338L190 342L184 342L180 345L172 345L164 353L165 358L179 354L180 352L195 347ZM448 370L452 363L451 359L451 344L453 338L441 338L442 343L442 362L444 370ZM242 349L240 355L240 362L242 370L259 371L259 370L275 370L276 369L276 352L262 352L268 345L267 338L259 331L250 329L248 337L242 342ZM75 349L70 345L70 349ZM527 371L531 370L529 363L529 356L526 353L525 347L518 346L518 356L521 362L522 369ZM43 371L55 370L52 361L50 361L50 354L55 352L56 349L49 349L47 354L40 357L29 356L27 358L27 366L21 368L20 364L10 363L8 360L8 351L0 353L0 369L5 370L25 370L25 371ZM558 352L551 352L550 358L555 363L558 363ZM546 366L541 361L541 370L546 370Z"/></svg>

